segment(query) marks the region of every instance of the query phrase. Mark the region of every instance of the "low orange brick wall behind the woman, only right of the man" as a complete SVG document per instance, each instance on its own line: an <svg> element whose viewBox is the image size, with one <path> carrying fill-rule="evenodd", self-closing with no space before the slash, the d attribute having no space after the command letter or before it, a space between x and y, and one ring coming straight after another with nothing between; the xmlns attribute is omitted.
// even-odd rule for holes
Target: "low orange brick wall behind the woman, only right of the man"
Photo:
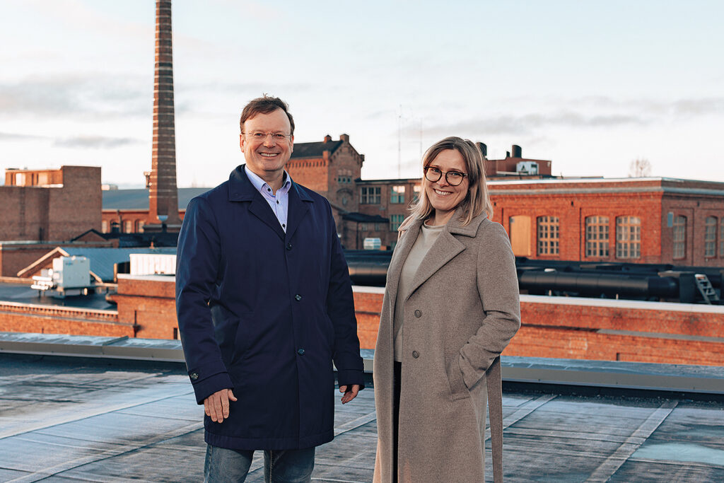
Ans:
<svg viewBox="0 0 724 483"><path fill-rule="evenodd" d="M374 349L384 289L355 287L358 335ZM724 365L724 306L521 295L508 356Z"/></svg>

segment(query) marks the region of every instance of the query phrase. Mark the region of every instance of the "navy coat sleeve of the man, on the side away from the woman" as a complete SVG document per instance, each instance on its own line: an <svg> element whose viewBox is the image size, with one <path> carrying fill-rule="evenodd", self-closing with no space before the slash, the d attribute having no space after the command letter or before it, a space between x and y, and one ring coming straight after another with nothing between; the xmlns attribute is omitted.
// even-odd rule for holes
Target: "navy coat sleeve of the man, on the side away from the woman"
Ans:
<svg viewBox="0 0 724 483"><path fill-rule="evenodd" d="M216 219L204 198L190 201L179 233L176 256L176 312L186 368L196 402L232 388L214 337L209 299L216 285L221 243Z"/></svg>

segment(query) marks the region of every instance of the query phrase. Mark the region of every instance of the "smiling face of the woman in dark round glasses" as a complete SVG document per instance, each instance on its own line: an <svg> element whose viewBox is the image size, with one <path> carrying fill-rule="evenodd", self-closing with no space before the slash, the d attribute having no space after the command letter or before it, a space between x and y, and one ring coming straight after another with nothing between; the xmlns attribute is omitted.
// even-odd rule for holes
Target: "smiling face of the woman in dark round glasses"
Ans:
<svg viewBox="0 0 724 483"><path fill-rule="evenodd" d="M454 171L467 175L463 155L455 149L445 149L445 151L440 151L428 166L437 168L442 172L442 176L437 181L430 181L427 177L424 177L425 192L427 193L427 199L430 200L430 204L432 204L432 207L435 209L435 217L438 218L445 214L452 214L455 208L468 195L470 183L466 176L460 185L450 185L450 183L445 180L445 173ZM449 177L450 180L452 180L453 177Z"/></svg>

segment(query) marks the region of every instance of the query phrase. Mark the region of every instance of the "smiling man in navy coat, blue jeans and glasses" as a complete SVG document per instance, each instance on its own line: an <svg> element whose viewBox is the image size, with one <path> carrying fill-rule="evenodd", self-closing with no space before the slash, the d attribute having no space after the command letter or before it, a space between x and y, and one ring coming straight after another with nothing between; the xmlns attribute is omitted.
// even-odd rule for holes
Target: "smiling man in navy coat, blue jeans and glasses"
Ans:
<svg viewBox="0 0 724 483"><path fill-rule="evenodd" d="M246 160L190 201L179 234L176 306L203 403L207 482L243 482L264 450L266 482L309 482L314 448L363 389L347 264L329 202L290 179L294 119L279 98L241 114Z"/></svg>

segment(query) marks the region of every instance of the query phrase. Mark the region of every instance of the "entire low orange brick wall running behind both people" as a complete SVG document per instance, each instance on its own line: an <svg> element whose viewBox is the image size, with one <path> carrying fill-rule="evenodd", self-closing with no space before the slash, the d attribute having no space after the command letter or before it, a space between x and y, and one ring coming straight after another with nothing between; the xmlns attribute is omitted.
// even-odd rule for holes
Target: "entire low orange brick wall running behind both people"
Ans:
<svg viewBox="0 0 724 483"><path fill-rule="evenodd" d="M374 349L382 287L354 287L361 348ZM174 280L119 277L117 311L0 303L0 330L171 339ZM521 295L509 356L724 366L724 306ZM135 332L134 332L135 327Z"/></svg>

